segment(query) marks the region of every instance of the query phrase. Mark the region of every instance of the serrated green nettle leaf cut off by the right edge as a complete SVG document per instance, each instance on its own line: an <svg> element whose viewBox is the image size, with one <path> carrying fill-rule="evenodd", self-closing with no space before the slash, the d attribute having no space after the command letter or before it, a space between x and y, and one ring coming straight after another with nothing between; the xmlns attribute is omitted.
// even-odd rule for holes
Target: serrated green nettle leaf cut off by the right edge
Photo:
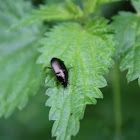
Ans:
<svg viewBox="0 0 140 140"><path fill-rule="evenodd" d="M138 78L140 85L140 18L139 15L121 12L114 17L118 54L121 57L120 69L128 69L128 82Z"/></svg>

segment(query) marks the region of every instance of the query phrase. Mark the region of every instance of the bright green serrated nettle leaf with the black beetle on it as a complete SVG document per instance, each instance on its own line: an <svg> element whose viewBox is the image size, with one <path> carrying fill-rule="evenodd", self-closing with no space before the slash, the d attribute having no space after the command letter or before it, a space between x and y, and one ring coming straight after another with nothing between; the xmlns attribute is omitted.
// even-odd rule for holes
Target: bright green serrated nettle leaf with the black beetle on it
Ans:
<svg viewBox="0 0 140 140"><path fill-rule="evenodd" d="M112 35L105 32L102 35L102 31L109 30L106 20L101 19L105 24L100 25L102 22L96 20L92 21L92 26L89 23L85 28L78 23L63 23L51 29L42 40L44 47L40 50L42 55L38 63L45 67L50 66L53 57L64 60L67 68L73 67L69 70L68 81L76 85L63 89L61 84L57 86L54 75L46 77L46 95L50 97L46 105L51 107L49 119L55 121L52 135L57 140L70 140L71 135L75 136L86 104L95 105L95 98L103 98L99 88L105 87L107 82L102 75L112 67L111 57L115 49Z"/></svg>

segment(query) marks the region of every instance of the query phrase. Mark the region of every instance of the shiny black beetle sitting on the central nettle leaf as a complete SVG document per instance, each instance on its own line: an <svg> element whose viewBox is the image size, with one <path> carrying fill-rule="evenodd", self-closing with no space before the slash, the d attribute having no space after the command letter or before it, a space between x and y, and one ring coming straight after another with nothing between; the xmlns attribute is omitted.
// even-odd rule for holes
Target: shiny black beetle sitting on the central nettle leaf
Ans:
<svg viewBox="0 0 140 140"><path fill-rule="evenodd" d="M57 80L61 82L64 88L67 87L68 83L68 70L64 64L64 62L58 58L51 59L51 67L45 67L44 69L49 68L54 71L54 73L49 73L56 75Z"/></svg>

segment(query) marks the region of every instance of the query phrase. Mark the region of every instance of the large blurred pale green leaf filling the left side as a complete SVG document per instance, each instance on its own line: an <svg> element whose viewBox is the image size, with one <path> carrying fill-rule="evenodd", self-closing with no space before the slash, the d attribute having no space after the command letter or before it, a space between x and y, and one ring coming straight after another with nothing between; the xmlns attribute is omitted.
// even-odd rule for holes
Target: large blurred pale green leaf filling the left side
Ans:
<svg viewBox="0 0 140 140"><path fill-rule="evenodd" d="M40 86L42 74L36 64L36 48L43 27L38 24L7 32L31 9L30 3L22 0L0 4L0 116L8 117L17 107L22 109Z"/></svg>

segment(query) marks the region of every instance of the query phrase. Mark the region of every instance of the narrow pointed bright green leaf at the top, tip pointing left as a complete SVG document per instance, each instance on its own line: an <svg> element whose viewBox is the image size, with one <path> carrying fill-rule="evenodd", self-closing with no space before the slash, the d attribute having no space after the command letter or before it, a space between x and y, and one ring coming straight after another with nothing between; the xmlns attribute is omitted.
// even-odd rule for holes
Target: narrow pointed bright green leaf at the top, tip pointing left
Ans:
<svg viewBox="0 0 140 140"><path fill-rule="evenodd" d="M32 12L29 16L25 17L21 20L16 26L25 26L33 23L37 23L40 21L63 21L63 20L71 20L78 19L82 16L81 9L72 3L70 0L67 0L67 3L59 3L59 4L51 4L40 6L39 9Z"/></svg>

